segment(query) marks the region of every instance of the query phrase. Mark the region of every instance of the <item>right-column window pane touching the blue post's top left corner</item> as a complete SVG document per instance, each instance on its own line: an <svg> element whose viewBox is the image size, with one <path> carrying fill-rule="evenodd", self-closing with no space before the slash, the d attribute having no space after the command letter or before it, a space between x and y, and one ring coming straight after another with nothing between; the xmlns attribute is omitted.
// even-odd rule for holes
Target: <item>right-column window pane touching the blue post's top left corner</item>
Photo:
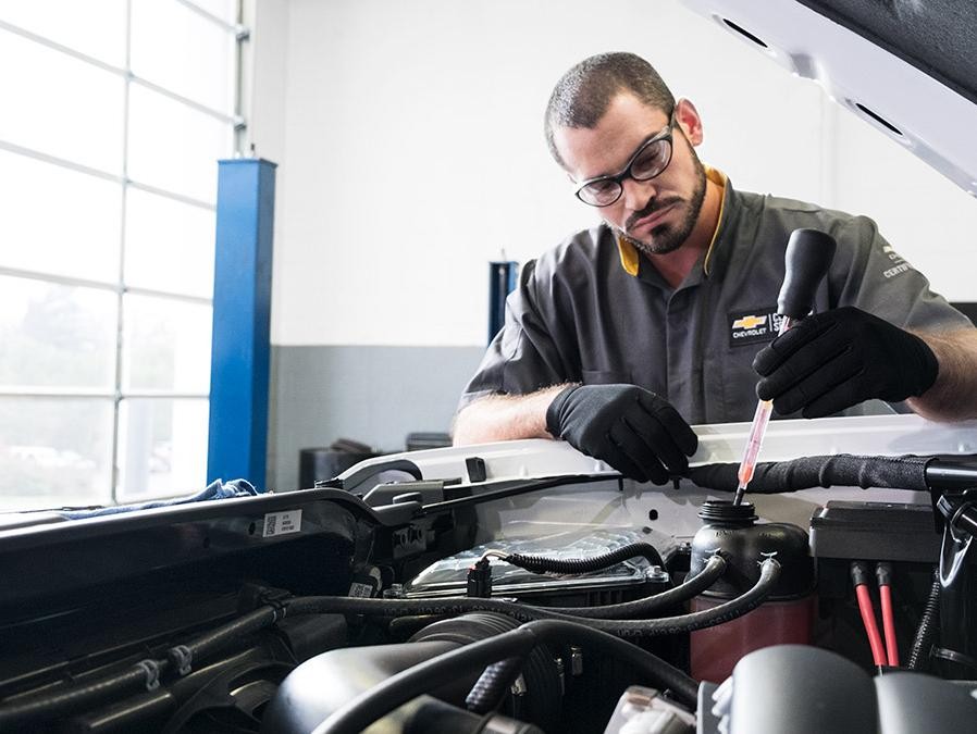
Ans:
<svg viewBox="0 0 977 734"><path fill-rule="evenodd" d="M132 85L129 105L129 175L213 203L218 160L233 149L231 125L138 84Z"/></svg>

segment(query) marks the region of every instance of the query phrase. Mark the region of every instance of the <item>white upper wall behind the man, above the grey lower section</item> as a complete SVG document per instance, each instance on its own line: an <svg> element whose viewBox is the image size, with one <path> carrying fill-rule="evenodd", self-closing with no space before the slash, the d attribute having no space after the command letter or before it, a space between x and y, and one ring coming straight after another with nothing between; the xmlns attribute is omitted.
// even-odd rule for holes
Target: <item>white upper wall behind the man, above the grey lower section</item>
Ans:
<svg viewBox="0 0 977 734"><path fill-rule="evenodd" d="M486 261L594 221L542 113L566 69L606 50L696 103L701 155L739 188L870 214L937 290L977 300L957 264L977 201L673 0L259 0L252 135L281 166L273 343L482 344Z"/></svg>

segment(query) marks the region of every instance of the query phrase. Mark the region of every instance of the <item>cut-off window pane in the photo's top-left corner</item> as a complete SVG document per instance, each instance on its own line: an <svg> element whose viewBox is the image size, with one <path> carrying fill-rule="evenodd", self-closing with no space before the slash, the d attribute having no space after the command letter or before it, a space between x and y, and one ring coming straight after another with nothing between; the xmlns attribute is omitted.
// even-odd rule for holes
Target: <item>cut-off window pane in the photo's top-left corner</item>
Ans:
<svg viewBox="0 0 977 734"><path fill-rule="evenodd" d="M113 66L125 65L125 0L2 0L0 20Z"/></svg>

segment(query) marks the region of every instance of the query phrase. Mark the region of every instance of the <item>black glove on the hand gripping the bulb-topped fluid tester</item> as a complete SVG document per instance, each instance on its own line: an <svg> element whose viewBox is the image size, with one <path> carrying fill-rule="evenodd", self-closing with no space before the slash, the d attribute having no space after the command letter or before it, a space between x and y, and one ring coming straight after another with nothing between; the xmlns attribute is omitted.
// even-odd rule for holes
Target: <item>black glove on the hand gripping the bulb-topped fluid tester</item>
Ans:
<svg viewBox="0 0 977 734"><path fill-rule="evenodd" d="M923 395L937 380L932 350L914 334L852 307L808 316L760 350L762 400L778 413L831 415L864 400Z"/></svg>

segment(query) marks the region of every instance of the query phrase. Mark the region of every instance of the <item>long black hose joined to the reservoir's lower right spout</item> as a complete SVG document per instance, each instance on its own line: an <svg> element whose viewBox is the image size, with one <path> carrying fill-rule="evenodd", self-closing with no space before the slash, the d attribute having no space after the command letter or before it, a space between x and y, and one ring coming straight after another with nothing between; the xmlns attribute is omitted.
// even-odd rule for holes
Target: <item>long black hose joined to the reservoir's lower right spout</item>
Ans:
<svg viewBox="0 0 977 734"><path fill-rule="evenodd" d="M585 619L547 611L541 607L528 607L500 599L359 599L351 597L301 597L294 599L288 608L294 613L337 613L337 614L462 614L472 611L495 611L508 614L523 622L535 620L564 620L585 622L591 627L622 637L655 637L702 630L722 624L742 617L758 607L772 590L780 576L780 563L767 558L760 564L760 575L756 584L742 596L726 601L712 609L665 617L653 620L602 620Z"/></svg>

